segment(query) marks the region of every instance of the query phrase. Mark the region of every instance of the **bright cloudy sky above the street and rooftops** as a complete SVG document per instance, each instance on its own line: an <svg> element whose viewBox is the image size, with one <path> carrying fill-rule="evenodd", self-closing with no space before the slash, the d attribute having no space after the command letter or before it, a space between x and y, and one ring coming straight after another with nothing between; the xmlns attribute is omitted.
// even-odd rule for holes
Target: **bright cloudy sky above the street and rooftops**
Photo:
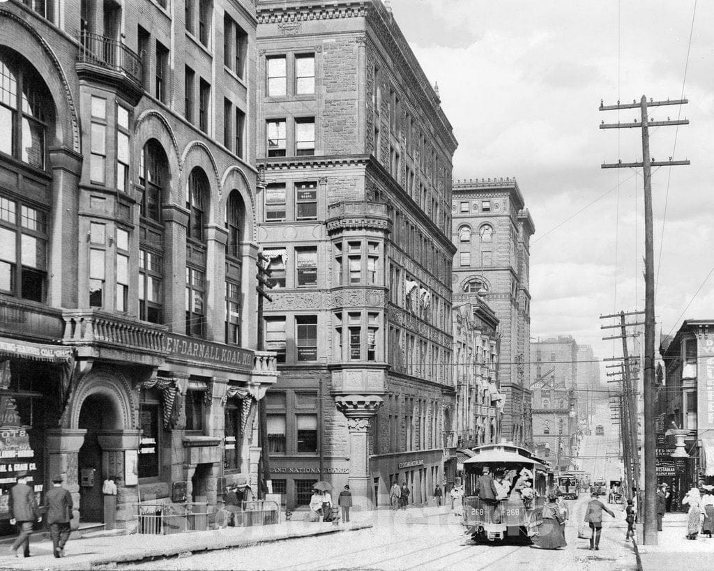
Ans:
<svg viewBox="0 0 714 571"><path fill-rule="evenodd" d="M617 111L598 110L600 99L678 99L684 89L688 105L650 111L654 120L691 121L650 130L651 156L692 161L653 173L655 314L663 333L714 318L714 2L696 10L694 0L391 6L438 81L459 141L454 178L518 179L536 227L531 335L571 334L601 358L619 350L600 340L599 315L643 310L645 288L641 169L600 168L640 161L640 130L600 130L618 121ZM639 117L620 111L623 122Z"/></svg>

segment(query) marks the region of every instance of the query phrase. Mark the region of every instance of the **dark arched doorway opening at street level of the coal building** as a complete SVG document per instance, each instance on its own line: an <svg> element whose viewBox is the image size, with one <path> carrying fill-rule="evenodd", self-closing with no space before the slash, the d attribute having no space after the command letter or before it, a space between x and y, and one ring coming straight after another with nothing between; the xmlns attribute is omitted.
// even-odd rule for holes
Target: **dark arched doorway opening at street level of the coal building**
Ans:
<svg viewBox="0 0 714 571"><path fill-rule="evenodd" d="M105 473L99 436L107 430L122 428L121 413L110 395L93 393L84 399L79 410L79 428L86 430L84 444L79 449L80 517L84 521L104 521L102 482L116 474Z"/></svg>

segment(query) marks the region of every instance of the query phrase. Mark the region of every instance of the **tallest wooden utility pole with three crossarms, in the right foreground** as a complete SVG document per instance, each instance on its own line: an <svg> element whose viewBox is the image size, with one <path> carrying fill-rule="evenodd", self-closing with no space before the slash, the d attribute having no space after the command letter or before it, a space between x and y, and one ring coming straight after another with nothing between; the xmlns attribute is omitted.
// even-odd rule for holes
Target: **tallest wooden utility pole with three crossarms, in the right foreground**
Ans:
<svg viewBox="0 0 714 571"><path fill-rule="evenodd" d="M670 157L668 161L653 161L650 159L650 126L670 126L688 125L687 119L676 119L675 121L650 121L648 107L681 105L688 103L686 99L674 101L647 101L643 95L640 103L633 103L605 106L600 101L600 111L614 111L620 109L640 108L640 121L633 123L603 123L601 129L611 128L633 128L642 129L642 162L641 163L603 163L602 168L643 168L643 178L645 186L645 367L643 375L643 396L645 422L643 432L645 435L645 501L643 510L643 539L645 545L657 545L657 475L655 473L655 261L653 247L652 230L652 171L653 166L675 166L688 165L689 161L673 161ZM628 363L629 364L629 363Z"/></svg>

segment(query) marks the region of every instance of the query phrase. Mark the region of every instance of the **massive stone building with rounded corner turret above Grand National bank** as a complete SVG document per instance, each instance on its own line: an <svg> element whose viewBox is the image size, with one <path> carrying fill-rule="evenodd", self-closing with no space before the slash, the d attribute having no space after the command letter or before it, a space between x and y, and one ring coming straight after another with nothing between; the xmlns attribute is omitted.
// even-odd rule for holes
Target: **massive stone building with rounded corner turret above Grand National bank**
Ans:
<svg viewBox="0 0 714 571"><path fill-rule="evenodd" d="M422 502L453 418L451 125L381 1L257 10L273 490L381 504L400 480Z"/></svg>

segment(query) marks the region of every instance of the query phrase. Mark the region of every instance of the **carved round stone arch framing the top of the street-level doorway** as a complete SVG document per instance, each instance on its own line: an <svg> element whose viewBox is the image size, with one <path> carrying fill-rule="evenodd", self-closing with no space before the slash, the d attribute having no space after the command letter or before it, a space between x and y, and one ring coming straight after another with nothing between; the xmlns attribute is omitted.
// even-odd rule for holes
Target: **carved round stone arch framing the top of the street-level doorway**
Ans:
<svg viewBox="0 0 714 571"><path fill-rule="evenodd" d="M69 415L69 426L79 428L79 413L84 401L92 395L102 395L114 405L111 412L116 415L120 426L115 428L135 428L138 419L139 399L131 389L131 383L124 375L115 370L92 370L79 381L74 391Z"/></svg>

